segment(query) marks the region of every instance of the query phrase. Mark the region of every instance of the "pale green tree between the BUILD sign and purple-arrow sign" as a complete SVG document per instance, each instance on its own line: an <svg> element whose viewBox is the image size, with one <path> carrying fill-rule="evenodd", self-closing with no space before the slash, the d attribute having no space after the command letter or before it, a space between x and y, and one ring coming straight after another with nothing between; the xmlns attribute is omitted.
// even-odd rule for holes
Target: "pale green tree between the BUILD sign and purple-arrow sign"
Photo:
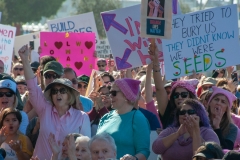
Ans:
<svg viewBox="0 0 240 160"><path fill-rule="evenodd" d="M119 0L73 0L73 6L77 14L93 12L99 37L106 37L100 13L121 8L121 3Z"/></svg>

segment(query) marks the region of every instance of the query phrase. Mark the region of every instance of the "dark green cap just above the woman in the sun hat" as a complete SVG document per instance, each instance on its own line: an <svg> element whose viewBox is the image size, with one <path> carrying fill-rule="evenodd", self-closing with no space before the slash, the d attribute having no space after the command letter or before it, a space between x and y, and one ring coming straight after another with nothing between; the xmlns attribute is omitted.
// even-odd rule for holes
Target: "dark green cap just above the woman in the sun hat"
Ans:
<svg viewBox="0 0 240 160"><path fill-rule="evenodd" d="M44 66L43 74L49 71L55 72L59 76L62 76L64 73L63 66L57 61L50 61Z"/></svg>

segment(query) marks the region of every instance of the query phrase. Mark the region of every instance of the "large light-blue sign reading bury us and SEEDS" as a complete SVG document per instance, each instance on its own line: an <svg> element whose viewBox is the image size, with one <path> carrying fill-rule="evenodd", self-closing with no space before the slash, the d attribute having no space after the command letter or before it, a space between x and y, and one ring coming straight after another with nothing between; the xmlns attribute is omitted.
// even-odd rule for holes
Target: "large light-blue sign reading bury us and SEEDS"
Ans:
<svg viewBox="0 0 240 160"><path fill-rule="evenodd" d="M171 40L163 40L166 79L239 64L237 6L173 17Z"/></svg>

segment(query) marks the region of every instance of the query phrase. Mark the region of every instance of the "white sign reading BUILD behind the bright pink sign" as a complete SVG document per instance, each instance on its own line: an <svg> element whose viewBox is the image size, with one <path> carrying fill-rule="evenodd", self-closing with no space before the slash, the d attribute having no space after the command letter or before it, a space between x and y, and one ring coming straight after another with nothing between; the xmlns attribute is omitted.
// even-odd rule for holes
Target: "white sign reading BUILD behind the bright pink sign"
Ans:
<svg viewBox="0 0 240 160"><path fill-rule="evenodd" d="M51 32L93 32L96 43L99 41L93 12L48 21L48 29Z"/></svg>

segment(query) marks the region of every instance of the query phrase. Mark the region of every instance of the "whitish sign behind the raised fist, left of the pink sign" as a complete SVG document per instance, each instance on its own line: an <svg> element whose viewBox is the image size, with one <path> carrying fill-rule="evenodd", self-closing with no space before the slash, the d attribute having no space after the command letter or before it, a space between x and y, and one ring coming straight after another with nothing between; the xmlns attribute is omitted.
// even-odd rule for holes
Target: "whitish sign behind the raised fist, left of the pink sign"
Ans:
<svg viewBox="0 0 240 160"><path fill-rule="evenodd" d="M31 62L39 61L38 47L40 46L40 32L34 32L30 34L25 34L21 36L16 36L14 43L14 52L18 56L18 50L29 42L34 42L34 49L31 53Z"/></svg>

